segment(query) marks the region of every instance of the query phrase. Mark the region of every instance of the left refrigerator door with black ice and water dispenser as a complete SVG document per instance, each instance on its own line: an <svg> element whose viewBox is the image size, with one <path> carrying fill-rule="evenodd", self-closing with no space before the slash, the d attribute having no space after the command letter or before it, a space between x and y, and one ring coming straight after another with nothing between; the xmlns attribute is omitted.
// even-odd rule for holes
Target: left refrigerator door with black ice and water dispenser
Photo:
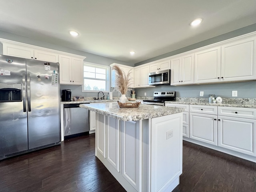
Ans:
<svg viewBox="0 0 256 192"><path fill-rule="evenodd" d="M0 55L0 160L28 150L25 74L24 58Z"/></svg>

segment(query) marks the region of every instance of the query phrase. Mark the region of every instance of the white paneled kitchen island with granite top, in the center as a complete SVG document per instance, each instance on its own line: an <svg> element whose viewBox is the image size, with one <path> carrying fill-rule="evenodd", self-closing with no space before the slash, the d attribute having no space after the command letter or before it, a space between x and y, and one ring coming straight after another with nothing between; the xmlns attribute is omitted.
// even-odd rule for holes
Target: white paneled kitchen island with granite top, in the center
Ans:
<svg viewBox="0 0 256 192"><path fill-rule="evenodd" d="M96 112L96 156L128 192L170 192L182 173L182 108L117 102Z"/></svg>

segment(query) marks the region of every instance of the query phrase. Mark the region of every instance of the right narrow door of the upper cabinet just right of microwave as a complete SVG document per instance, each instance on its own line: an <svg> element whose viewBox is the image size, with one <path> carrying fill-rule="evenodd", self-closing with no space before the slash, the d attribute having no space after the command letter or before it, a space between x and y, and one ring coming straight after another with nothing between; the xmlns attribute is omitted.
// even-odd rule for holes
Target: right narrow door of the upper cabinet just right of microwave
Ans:
<svg viewBox="0 0 256 192"><path fill-rule="evenodd" d="M182 56L181 80L182 80L182 84L194 83L194 54Z"/></svg>

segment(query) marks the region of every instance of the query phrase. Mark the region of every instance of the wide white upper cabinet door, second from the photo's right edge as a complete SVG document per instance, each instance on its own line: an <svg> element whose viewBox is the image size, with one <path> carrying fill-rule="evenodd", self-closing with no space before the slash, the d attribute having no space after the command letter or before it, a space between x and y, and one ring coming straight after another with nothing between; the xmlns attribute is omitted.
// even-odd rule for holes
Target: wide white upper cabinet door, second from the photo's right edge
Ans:
<svg viewBox="0 0 256 192"><path fill-rule="evenodd" d="M195 53L194 83L220 82L220 47Z"/></svg>

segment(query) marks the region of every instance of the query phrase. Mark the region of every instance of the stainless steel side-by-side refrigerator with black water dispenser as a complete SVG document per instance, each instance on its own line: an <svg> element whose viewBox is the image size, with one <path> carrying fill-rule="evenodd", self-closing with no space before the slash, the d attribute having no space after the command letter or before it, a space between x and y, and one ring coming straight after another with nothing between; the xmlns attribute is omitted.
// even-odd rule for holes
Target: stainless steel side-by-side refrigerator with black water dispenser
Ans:
<svg viewBox="0 0 256 192"><path fill-rule="evenodd" d="M0 55L0 160L60 143L59 63Z"/></svg>

